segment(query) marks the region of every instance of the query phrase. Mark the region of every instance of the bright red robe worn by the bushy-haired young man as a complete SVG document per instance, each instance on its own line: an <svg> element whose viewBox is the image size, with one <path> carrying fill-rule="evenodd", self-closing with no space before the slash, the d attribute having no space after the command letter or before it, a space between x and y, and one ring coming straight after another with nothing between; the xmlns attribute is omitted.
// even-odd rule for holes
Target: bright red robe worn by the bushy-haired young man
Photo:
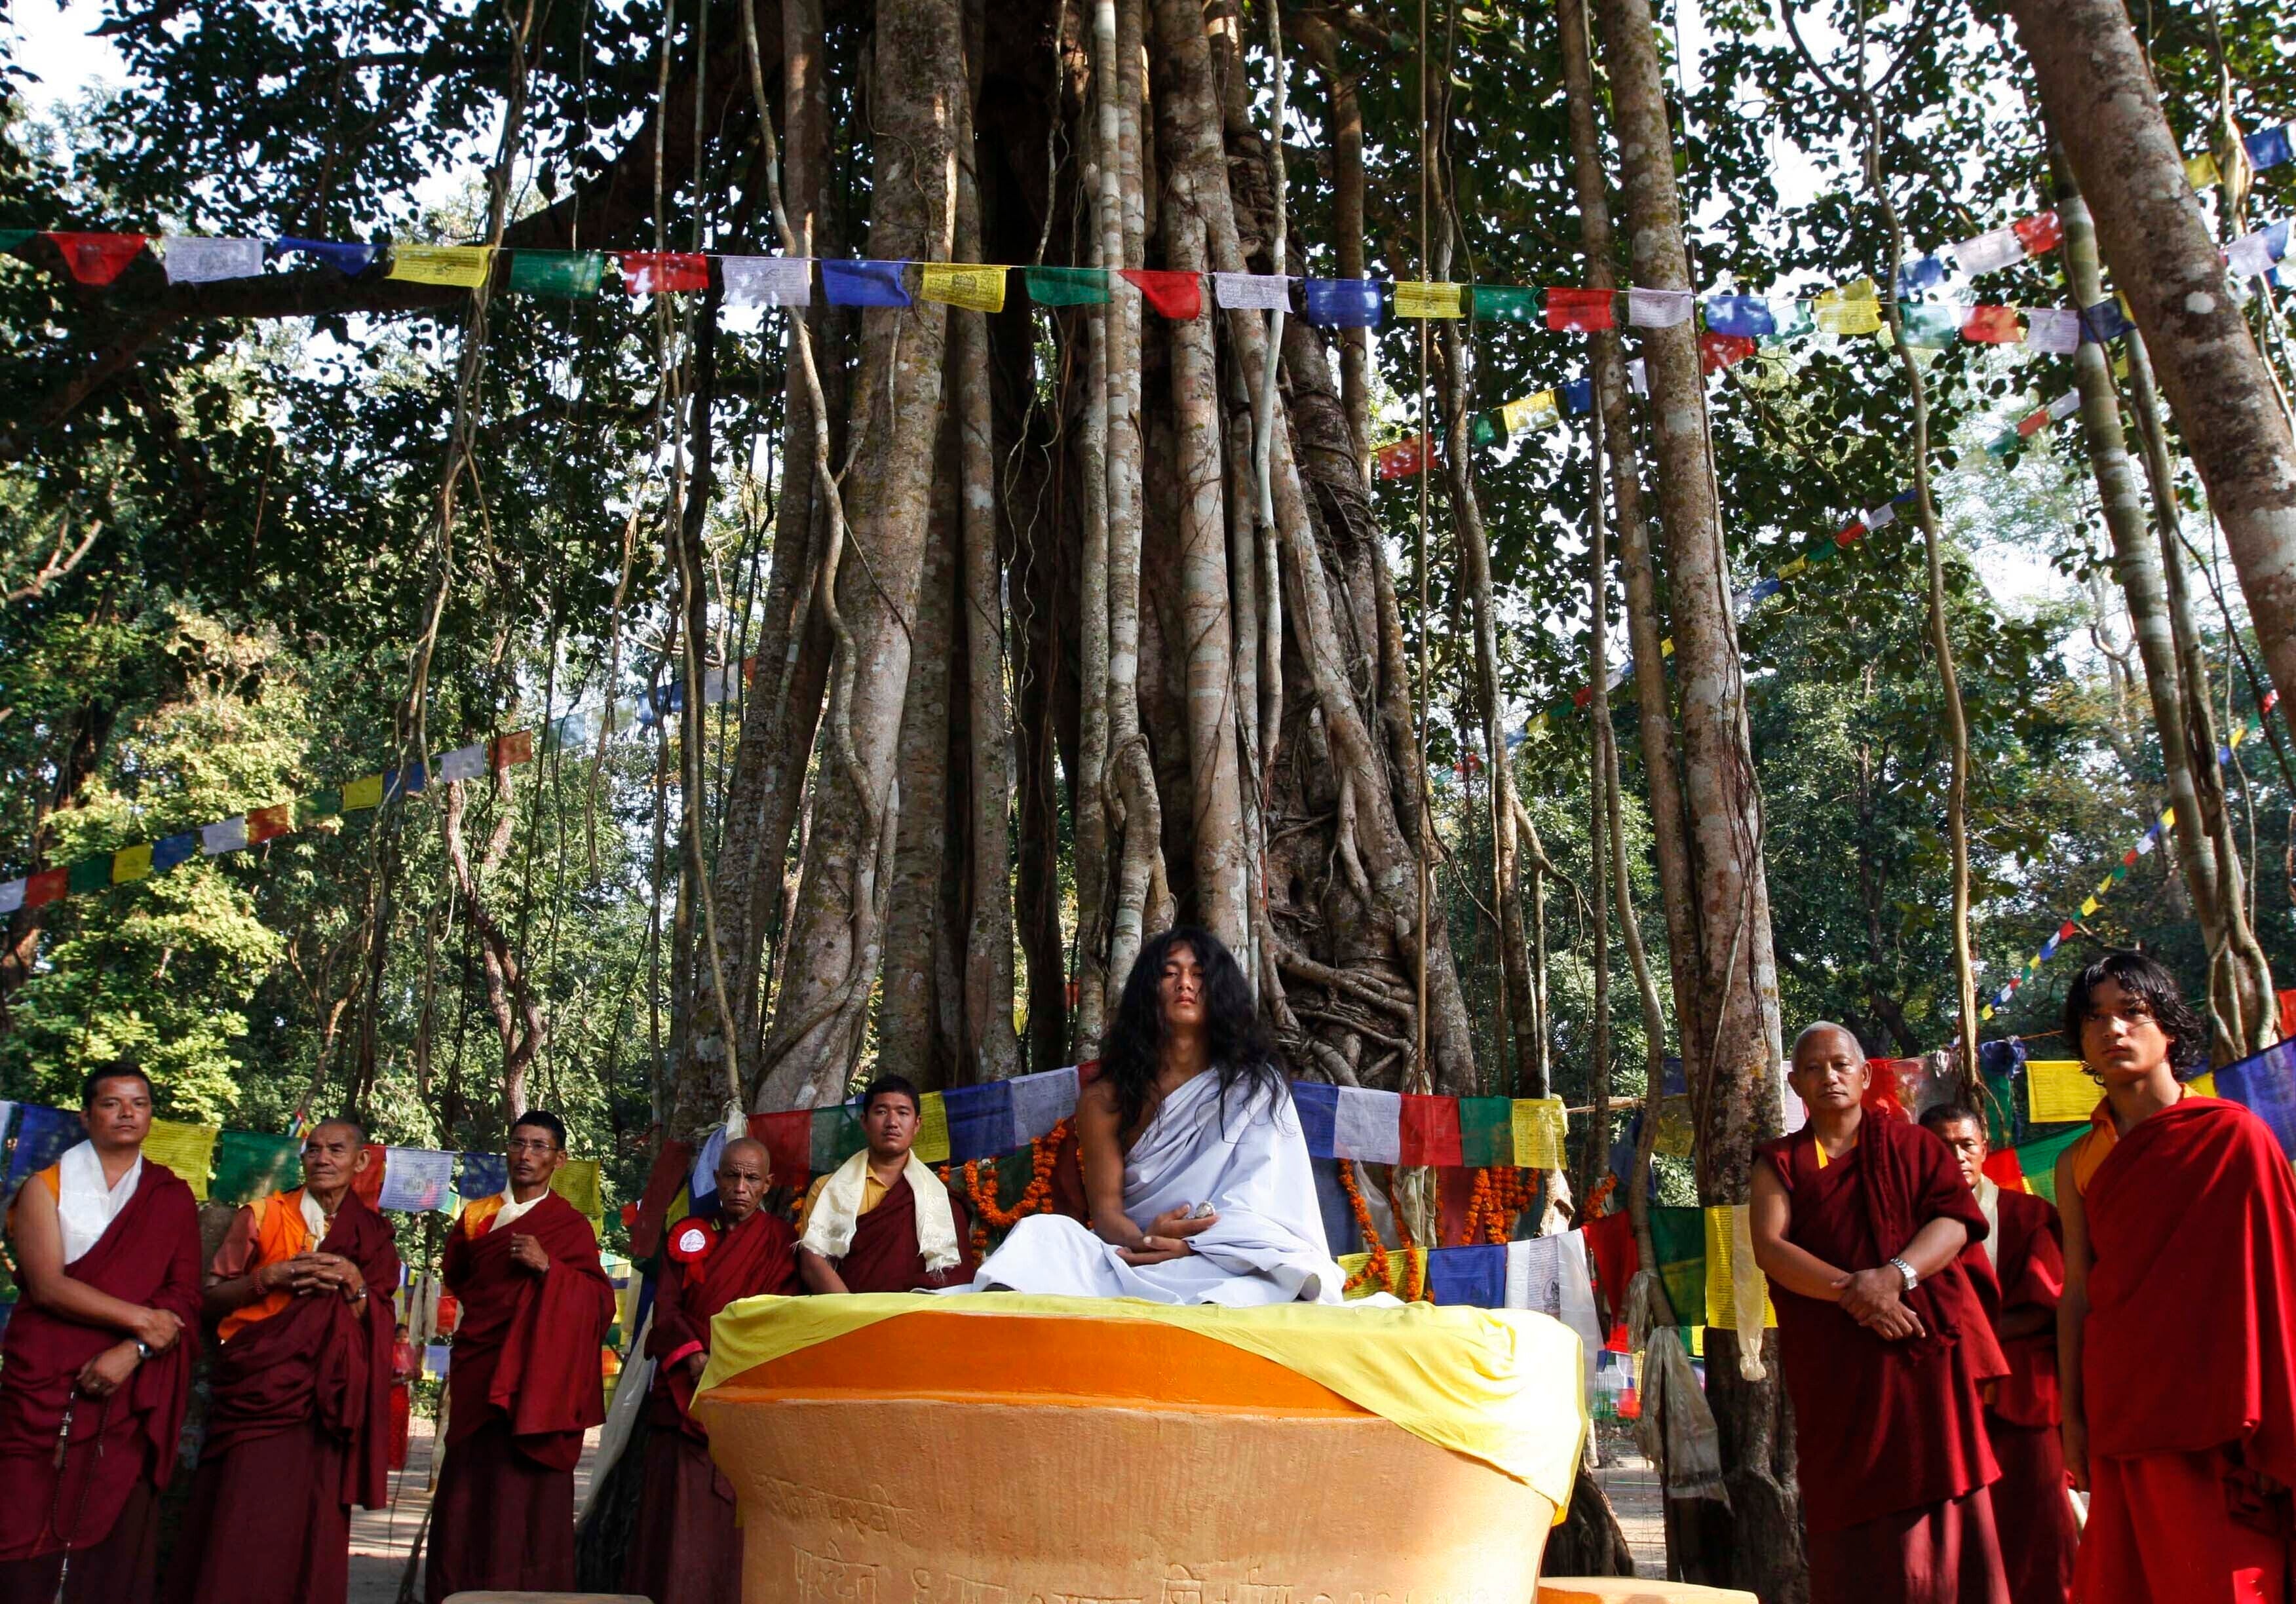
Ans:
<svg viewBox="0 0 2296 1604"><path fill-rule="evenodd" d="M2082 1193L2089 1526L2073 1597L2271 1599L2296 1533L2296 1177L2239 1104L2140 1120Z"/></svg>

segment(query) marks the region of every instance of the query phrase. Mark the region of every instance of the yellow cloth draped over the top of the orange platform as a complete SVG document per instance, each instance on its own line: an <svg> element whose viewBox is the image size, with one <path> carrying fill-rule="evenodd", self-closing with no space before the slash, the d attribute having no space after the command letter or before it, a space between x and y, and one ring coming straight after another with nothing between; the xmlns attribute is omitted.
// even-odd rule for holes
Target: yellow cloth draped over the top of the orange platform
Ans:
<svg viewBox="0 0 2296 1604"><path fill-rule="evenodd" d="M964 1299L930 1292L758 1297L728 1306L709 1322L709 1368L700 1391L879 1319L923 1310L1077 1322L1146 1319L1194 1331L1318 1381L1437 1448L1513 1475L1554 1503L1557 1524L1570 1508L1587 1439L1580 1340L1559 1319L1508 1308L1219 1308L1017 1292Z"/></svg>

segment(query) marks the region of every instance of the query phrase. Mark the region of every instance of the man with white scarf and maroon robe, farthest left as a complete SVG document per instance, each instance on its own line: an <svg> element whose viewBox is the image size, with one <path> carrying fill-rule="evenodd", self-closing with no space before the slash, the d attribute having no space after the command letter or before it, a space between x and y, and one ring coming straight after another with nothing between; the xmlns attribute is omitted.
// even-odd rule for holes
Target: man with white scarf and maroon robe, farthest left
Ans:
<svg viewBox="0 0 2296 1604"><path fill-rule="evenodd" d="M23 1301L0 1342L0 1604L152 1597L191 1393L200 1214L142 1157L152 1081L96 1069L80 1122L87 1140L9 1212Z"/></svg>

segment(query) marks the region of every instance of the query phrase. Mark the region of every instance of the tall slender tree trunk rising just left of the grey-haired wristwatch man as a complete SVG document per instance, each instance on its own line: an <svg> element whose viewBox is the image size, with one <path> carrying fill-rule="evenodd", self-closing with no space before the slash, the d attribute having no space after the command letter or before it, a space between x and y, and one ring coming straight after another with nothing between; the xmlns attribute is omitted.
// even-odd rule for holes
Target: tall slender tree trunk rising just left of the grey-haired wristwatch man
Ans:
<svg viewBox="0 0 2296 1604"><path fill-rule="evenodd" d="M1692 289L1674 135L1646 0L1596 7L1619 129L1635 285ZM1708 1060L1692 1083L1701 1202L1745 1202L1754 1143L1777 1131L1777 971L1761 865L1761 796L1745 725L1729 558L1706 438L1706 390L1690 324L1644 333L1655 413L1660 523L1681 684L1683 789L1692 822L1699 998ZM1651 670L1655 672L1655 663ZM1649 1124L1649 1122L1646 1122ZM1766 1342L1775 1358L1775 1345ZM1708 1391L1722 1430L1731 1503L1708 1521L1692 1565L1701 1579L1793 1604L1807 1597L1800 1492L1775 1363L1743 1372L1736 1340L1715 1333ZM1745 1356L1752 1358L1752 1356ZM1717 1505L1701 1505L1717 1510Z"/></svg>

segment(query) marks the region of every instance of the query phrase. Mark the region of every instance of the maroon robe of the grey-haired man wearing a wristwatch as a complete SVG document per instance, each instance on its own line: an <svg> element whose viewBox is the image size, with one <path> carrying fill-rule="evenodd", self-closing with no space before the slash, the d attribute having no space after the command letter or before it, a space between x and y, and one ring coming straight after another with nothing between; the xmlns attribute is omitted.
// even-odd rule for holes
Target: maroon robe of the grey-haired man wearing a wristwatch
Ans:
<svg viewBox="0 0 2296 1604"><path fill-rule="evenodd" d="M1940 1216L1970 1230L1961 1260L1906 1294L1926 1336L1901 1342L1770 1283L1812 1604L2009 1604L1979 1404L1979 1384L2009 1365L1970 1283L1986 1235L1977 1196L1942 1140L1871 1111L1857 1145L1823 1168L1807 1124L1763 1157L1793 1202L1786 1239L1844 1271L1880 1269Z"/></svg>

